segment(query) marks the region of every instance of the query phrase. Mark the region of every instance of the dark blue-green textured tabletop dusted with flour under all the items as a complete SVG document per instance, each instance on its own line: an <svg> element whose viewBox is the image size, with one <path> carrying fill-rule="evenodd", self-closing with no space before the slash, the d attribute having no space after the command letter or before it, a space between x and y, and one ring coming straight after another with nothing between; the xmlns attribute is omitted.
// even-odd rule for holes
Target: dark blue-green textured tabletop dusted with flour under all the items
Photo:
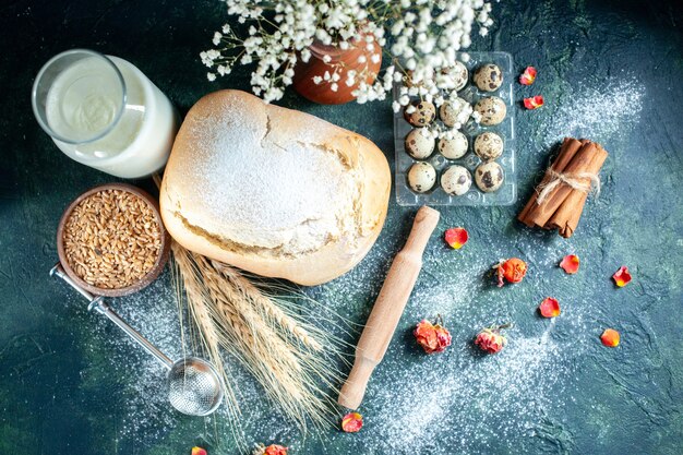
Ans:
<svg viewBox="0 0 683 455"><path fill-rule="evenodd" d="M243 70L209 83L199 60L226 20L224 5L20 0L0 11L0 454L189 454L194 444L236 453L220 416L216 423L170 411L163 372L131 344L115 342L116 328L47 277L61 212L112 179L63 156L29 105L40 65L72 47L133 62L183 112L219 87L248 88ZM361 433L303 439L244 379L249 442L281 441L292 455L683 453L682 8L503 1L494 16L492 34L472 49L510 51L519 70L537 67L537 83L517 94L542 94L547 103L516 112L522 199L505 208L442 211L438 232L466 226L471 240L457 253L438 239L430 243L368 391ZM324 107L288 92L280 104L367 135L393 164L387 103ZM568 241L514 221L563 135L589 137L611 153L601 195L589 201ZM392 199L386 226L361 265L309 292L363 322L412 213ZM570 252L583 261L573 277L555 266ZM526 282L502 290L484 283L488 267L512 255L529 262ZM616 290L609 277L621 265L634 282ZM563 303L552 323L535 313L548 295ZM180 352L168 274L115 306L170 355ZM410 327L435 313L452 330L453 346L426 358ZM510 320L516 326L500 357L472 351L478 328ZM622 333L616 349L599 344L607 326Z"/></svg>

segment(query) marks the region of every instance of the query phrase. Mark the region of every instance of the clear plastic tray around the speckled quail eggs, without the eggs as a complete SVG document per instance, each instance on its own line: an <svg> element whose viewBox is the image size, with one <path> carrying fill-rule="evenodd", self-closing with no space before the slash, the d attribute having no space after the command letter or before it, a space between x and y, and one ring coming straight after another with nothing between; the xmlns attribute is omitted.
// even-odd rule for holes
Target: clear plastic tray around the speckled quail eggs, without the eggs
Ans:
<svg viewBox="0 0 683 455"><path fill-rule="evenodd" d="M458 159L446 159L439 153L439 140L431 156L423 159L430 163L436 169L436 182L434 187L426 193L417 193L408 185L408 170L417 159L412 158L406 152L405 139L414 128L404 118L403 108L394 113L394 144L396 153L396 202L399 205L463 205L463 206L491 206L491 205L511 205L517 200L517 169L515 161L515 101L514 101L514 83L516 80L513 58L507 52L467 52L469 60L464 62L469 72L467 85L458 92L458 96L470 103L472 107L482 97L498 96L506 105L507 115L505 119L492 127L478 124L470 119L460 131L468 141L467 153ZM482 92L472 81L474 72L477 68L486 63L498 64L503 73L503 84L495 92ZM399 97L402 84L394 85L394 100ZM415 97L416 98L416 97ZM439 118L439 108L436 108L436 119L434 123L441 123ZM442 123L443 125L443 123ZM475 139L486 132L492 131L499 134L504 142L503 154L495 159L501 165L504 172L503 185L495 192L484 193L477 187L475 181L475 169L481 159L474 152ZM441 188L441 175L451 165L460 165L467 168L472 175L472 185L469 191L463 195L450 195Z"/></svg>

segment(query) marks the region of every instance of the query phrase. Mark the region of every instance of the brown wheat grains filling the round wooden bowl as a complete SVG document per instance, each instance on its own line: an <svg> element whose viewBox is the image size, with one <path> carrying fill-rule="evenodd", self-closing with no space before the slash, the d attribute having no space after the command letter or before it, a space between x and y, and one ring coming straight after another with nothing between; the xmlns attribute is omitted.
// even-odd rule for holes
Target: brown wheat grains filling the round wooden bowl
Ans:
<svg viewBox="0 0 683 455"><path fill-rule="evenodd" d="M132 192L107 189L83 199L69 215L63 248L71 270L100 289L141 282L161 254L154 207Z"/></svg>

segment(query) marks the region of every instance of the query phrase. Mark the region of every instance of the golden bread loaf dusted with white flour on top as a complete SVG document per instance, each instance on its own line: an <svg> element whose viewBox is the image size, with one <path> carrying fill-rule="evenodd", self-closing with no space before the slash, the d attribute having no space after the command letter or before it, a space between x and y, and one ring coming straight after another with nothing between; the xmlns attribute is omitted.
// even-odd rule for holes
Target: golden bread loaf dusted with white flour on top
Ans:
<svg viewBox="0 0 683 455"><path fill-rule="evenodd" d="M239 91L200 99L161 184L170 235L196 253L301 285L354 267L386 217L391 173L368 139Z"/></svg>

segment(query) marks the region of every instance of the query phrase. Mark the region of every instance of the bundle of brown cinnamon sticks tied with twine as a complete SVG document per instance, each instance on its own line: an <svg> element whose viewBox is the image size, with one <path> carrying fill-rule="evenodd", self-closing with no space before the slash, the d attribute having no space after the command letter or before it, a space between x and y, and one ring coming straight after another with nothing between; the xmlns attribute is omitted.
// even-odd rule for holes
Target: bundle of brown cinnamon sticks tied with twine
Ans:
<svg viewBox="0 0 683 455"><path fill-rule="evenodd" d="M600 144L565 137L517 219L529 227L558 229L562 237L572 237L588 194L599 189L598 173L607 157Z"/></svg>

